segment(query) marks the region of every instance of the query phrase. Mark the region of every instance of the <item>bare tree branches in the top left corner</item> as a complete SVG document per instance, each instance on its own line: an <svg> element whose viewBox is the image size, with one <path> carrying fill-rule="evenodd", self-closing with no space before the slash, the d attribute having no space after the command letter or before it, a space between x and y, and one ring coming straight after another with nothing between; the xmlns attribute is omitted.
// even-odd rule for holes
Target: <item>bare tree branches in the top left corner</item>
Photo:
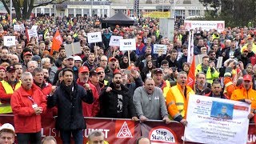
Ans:
<svg viewBox="0 0 256 144"><path fill-rule="evenodd" d="M40 2L37 0L1 0L8 14L10 14L10 1L13 3L16 18L18 20L26 20L30 18L32 10L35 7L47 6L49 4L59 4L65 2L66 0L41 0Z"/></svg>

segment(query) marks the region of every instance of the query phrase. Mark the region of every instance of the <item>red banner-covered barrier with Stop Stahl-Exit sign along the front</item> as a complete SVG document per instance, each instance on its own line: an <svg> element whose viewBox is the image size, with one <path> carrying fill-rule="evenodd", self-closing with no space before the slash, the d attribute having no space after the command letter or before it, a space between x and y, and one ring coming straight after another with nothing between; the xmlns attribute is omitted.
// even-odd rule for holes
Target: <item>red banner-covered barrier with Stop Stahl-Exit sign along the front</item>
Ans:
<svg viewBox="0 0 256 144"><path fill-rule="evenodd" d="M0 124L9 122L14 124L13 114L2 114ZM58 130L55 129L54 118L44 118L42 122L42 137L53 136L58 143L62 143ZM134 122L130 119L116 118L86 118L86 130L83 130L84 143L88 134L93 130L101 130L110 143L134 143L140 136L146 136L154 143L182 143L184 126L178 122L166 125L162 121L150 120ZM256 129L250 124L247 143L256 142ZM192 142L186 142L192 143Z"/></svg>

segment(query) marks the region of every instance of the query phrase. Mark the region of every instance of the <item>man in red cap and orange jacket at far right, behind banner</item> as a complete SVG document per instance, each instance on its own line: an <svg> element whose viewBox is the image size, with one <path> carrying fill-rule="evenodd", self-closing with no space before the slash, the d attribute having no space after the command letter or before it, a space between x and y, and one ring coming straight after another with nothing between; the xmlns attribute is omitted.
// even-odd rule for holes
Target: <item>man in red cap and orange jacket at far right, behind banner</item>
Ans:
<svg viewBox="0 0 256 144"><path fill-rule="evenodd" d="M250 122L255 123L254 114L256 114L256 90L252 89L252 78L249 74L246 74L243 76L242 81L242 87L234 90L234 92L231 95L231 100L234 101L240 101L240 102L246 102L248 104L251 104L250 114L248 115L248 118L250 119Z"/></svg>

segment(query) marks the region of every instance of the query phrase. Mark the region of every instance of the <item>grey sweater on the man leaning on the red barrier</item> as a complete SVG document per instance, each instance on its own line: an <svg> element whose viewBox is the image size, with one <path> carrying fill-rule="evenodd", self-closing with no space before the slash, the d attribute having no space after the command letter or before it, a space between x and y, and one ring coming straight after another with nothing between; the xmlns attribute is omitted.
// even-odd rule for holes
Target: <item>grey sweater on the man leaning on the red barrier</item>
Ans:
<svg viewBox="0 0 256 144"><path fill-rule="evenodd" d="M154 86L154 92L151 95L146 93L144 86L138 87L134 91L134 106L138 118L145 116L153 120L162 120L168 116L162 90L156 86Z"/></svg>

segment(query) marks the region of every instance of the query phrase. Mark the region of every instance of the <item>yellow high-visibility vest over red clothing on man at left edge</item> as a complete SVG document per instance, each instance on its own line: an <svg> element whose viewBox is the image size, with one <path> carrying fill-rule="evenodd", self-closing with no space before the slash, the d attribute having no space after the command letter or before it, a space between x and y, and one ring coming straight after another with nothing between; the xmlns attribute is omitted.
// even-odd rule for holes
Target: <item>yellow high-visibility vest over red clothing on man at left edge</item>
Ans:
<svg viewBox="0 0 256 144"><path fill-rule="evenodd" d="M22 86L22 82L18 81L18 83L16 84L14 90L13 88L10 86L10 84L6 81L1 81L3 88L6 90L6 94L14 94L14 90L17 90L19 87ZM0 102L0 114L8 114L8 113L12 113L13 110L11 110L11 106L10 103L1 103Z"/></svg>

